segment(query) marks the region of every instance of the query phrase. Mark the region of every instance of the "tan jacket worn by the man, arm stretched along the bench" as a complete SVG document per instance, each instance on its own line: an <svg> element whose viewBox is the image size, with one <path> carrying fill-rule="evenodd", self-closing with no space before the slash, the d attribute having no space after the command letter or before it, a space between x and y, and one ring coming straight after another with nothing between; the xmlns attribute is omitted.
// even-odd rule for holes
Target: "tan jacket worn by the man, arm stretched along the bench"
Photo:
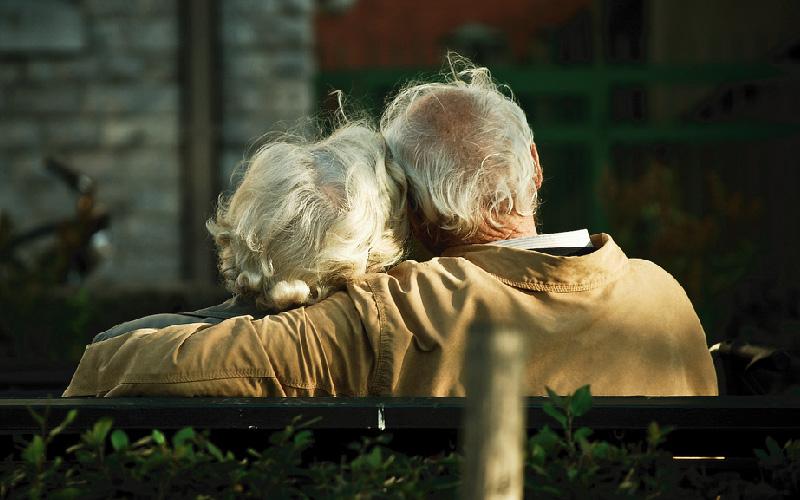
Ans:
<svg viewBox="0 0 800 500"><path fill-rule="evenodd" d="M529 340L527 392L715 395L681 286L608 235L580 257L470 245L313 306L137 330L86 348L65 396L463 396L475 323ZM486 331L486 334L491 332Z"/></svg>

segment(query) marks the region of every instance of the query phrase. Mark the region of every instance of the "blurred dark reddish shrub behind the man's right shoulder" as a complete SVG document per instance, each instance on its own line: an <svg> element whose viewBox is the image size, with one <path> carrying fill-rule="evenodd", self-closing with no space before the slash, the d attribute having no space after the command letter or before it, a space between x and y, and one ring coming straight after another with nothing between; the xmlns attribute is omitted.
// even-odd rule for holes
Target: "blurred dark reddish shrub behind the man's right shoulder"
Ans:
<svg viewBox="0 0 800 500"><path fill-rule="evenodd" d="M690 211L677 169L653 162L638 178L609 174L602 185L609 225L625 252L662 266L686 289L707 328L719 328L728 293L756 263L757 199L705 173L704 210ZM709 332L713 335L716 332Z"/></svg>

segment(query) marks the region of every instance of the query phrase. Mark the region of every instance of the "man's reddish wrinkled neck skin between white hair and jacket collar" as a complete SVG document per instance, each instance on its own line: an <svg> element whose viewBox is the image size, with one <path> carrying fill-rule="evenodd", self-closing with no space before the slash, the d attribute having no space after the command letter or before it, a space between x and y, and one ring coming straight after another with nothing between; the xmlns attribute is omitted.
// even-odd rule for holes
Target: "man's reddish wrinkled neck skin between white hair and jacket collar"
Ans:
<svg viewBox="0 0 800 500"><path fill-rule="evenodd" d="M450 247L480 245L492 243L494 241L535 236L537 234L536 220L534 217L532 215L523 216L516 213L507 216L503 221L502 227L499 228L493 227L487 221L484 221L475 234L466 238L452 235L446 231L437 230L437 228L425 225L419 216L413 212L409 213L409 219L414 236L434 255L441 255L445 249Z"/></svg>

